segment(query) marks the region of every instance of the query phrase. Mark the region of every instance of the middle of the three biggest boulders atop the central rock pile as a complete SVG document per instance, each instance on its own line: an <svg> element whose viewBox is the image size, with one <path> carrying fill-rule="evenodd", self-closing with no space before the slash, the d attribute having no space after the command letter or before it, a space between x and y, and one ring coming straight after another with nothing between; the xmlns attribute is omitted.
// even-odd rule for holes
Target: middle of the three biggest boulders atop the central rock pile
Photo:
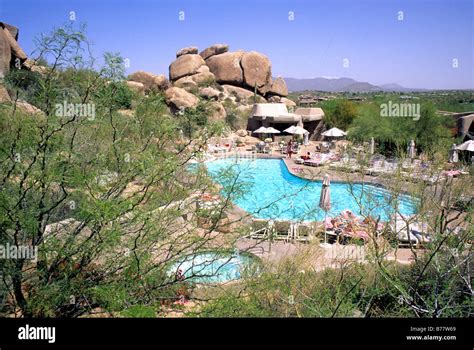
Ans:
<svg viewBox="0 0 474 350"><path fill-rule="evenodd" d="M240 60L244 53L225 52L215 55L206 60L211 73L216 76L216 82L220 84L242 85L244 81Z"/></svg>

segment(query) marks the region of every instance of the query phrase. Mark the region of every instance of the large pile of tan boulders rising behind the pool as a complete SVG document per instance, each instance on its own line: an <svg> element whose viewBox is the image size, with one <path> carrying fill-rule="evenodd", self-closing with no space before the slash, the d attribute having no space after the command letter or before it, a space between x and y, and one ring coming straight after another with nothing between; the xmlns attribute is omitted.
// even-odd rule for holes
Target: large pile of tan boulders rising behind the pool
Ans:
<svg viewBox="0 0 474 350"><path fill-rule="evenodd" d="M176 53L168 78L138 71L128 77L128 86L140 93L164 92L172 109L196 107L199 98L212 101L217 119L225 118L226 108L251 108L257 102L295 103L286 98L282 78L272 78L271 62L256 51L229 51L226 44L215 44L201 52L185 47Z"/></svg>

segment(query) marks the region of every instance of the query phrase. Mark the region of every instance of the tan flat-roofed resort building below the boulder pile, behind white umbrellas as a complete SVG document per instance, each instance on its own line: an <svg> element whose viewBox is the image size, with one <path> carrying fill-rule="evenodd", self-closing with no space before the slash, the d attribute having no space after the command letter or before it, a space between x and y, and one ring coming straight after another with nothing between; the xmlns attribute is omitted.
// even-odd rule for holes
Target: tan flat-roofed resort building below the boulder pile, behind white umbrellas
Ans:
<svg viewBox="0 0 474 350"><path fill-rule="evenodd" d="M299 107L290 113L284 103L256 103L250 113L247 129L253 132L262 126L273 127L285 134L285 129L299 125L309 131L309 139L315 139L323 117L321 108Z"/></svg>

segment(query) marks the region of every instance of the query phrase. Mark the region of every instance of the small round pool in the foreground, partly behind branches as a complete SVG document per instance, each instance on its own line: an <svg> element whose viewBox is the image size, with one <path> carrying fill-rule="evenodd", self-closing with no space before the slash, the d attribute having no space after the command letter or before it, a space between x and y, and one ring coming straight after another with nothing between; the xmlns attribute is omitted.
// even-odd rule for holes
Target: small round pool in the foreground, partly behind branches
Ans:
<svg viewBox="0 0 474 350"><path fill-rule="evenodd" d="M205 252L185 257L171 271L196 283L222 283L240 279L243 271L257 260L250 254Z"/></svg>

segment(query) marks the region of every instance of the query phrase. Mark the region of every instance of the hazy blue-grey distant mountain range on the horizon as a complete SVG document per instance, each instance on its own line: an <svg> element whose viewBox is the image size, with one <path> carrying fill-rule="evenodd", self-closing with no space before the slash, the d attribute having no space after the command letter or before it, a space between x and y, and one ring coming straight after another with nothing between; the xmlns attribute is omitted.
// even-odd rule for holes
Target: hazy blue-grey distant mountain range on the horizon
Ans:
<svg viewBox="0 0 474 350"><path fill-rule="evenodd" d="M374 91L426 91L426 89L412 89L398 84L373 85L367 82L360 82L351 78L283 78L286 81L288 91L298 92L306 90L327 91L327 92L374 92Z"/></svg>

